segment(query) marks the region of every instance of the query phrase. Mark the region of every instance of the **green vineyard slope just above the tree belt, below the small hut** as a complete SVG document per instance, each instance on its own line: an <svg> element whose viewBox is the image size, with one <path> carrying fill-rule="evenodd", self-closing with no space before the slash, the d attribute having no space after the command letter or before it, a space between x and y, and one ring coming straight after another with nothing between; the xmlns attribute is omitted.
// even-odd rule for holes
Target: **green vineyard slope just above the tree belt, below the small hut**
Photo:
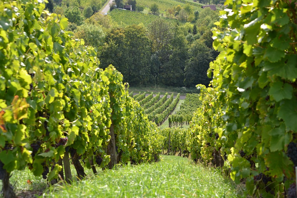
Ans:
<svg viewBox="0 0 297 198"><path fill-rule="evenodd" d="M133 25L133 24L140 24L143 23L144 26L148 26L150 23L155 21L158 18L163 18L161 16L150 15L150 14L143 14L141 12L132 12L127 10L119 10L114 9L110 12L111 19L118 24L126 24L126 25ZM166 18L164 18L166 19ZM176 23L176 19L166 19L171 24Z"/></svg>

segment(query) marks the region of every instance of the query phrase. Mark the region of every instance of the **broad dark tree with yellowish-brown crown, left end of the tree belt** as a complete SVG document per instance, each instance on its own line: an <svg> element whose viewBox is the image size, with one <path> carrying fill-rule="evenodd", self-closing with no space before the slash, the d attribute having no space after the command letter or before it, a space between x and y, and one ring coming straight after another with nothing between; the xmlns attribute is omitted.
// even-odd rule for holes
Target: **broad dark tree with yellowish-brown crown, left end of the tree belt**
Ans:
<svg viewBox="0 0 297 198"><path fill-rule="evenodd" d="M104 49L98 53L101 67L113 64L129 84L148 84L151 49L144 26L112 29L105 41Z"/></svg>

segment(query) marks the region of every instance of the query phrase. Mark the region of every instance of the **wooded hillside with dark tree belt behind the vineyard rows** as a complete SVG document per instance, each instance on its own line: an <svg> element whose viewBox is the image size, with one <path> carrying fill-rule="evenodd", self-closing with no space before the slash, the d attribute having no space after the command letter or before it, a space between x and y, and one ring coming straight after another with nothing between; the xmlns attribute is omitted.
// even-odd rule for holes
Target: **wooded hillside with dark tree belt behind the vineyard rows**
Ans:
<svg viewBox="0 0 297 198"><path fill-rule="evenodd" d="M68 30L97 50L100 67L114 65L131 86L209 86L209 62L218 55L211 32L219 19L218 10L183 3L173 6L167 18L156 16L159 12L153 15L117 9L103 16L98 11L100 3L96 7L95 1L49 2L54 6L49 11L64 14L70 22ZM129 3L138 6L138 2ZM131 16L137 13L137 17Z"/></svg>

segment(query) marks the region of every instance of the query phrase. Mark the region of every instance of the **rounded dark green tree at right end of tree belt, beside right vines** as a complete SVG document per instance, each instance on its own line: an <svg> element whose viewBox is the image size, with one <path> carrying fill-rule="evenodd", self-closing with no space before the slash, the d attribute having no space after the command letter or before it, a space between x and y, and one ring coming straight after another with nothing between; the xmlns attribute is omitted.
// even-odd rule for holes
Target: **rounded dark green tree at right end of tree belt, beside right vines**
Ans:
<svg viewBox="0 0 297 198"><path fill-rule="evenodd" d="M185 85L187 87L197 84L209 86L210 78L207 76L209 63L213 61L210 49L202 41L194 41L189 49L189 58L185 66Z"/></svg>

